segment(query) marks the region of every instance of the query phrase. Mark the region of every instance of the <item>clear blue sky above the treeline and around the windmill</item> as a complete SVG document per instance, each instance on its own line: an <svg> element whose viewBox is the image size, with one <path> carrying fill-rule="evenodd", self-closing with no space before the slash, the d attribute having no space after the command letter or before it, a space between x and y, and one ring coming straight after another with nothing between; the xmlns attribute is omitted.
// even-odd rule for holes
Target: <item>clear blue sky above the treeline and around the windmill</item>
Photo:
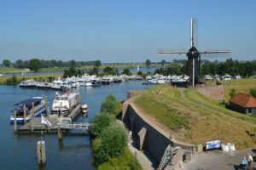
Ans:
<svg viewBox="0 0 256 170"><path fill-rule="evenodd" d="M0 0L0 61L172 60L158 49L189 49L191 17L198 49L256 59L255 7L253 0Z"/></svg>

